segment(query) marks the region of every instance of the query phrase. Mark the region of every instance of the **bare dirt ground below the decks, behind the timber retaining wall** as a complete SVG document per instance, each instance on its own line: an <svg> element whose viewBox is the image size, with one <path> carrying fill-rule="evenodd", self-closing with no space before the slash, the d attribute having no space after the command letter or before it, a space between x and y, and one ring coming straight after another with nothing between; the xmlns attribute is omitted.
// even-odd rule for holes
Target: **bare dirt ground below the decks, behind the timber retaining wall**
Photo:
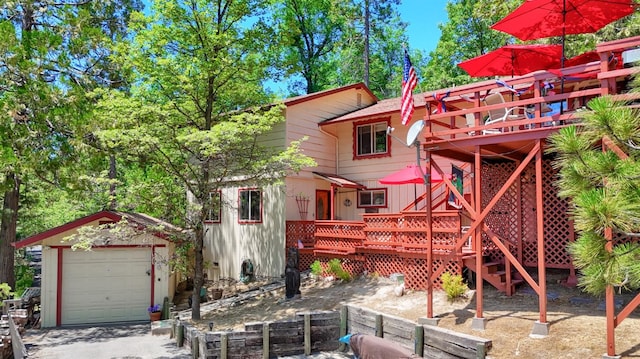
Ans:
<svg viewBox="0 0 640 359"><path fill-rule="evenodd" d="M589 296L579 288L560 284L566 272L547 274L547 322L549 335L544 338L530 336L533 325L540 319L538 299L533 290L521 286L507 297L492 286L484 288L484 331L471 329L476 313L474 287L467 297L450 303L444 292L434 293L434 315L440 318L441 328L491 339L491 358L602 358L606 353L606 321L604 299ZM260 285L260 282L251 285ZM418 321L426 314L426 293L407 291L398 297L396 283L389 278L363 277L348 283L339 281L303 281L300 299L285 301L282 290L264 292L231 308L203 312L197 323L208 330L242 330L246 322L293 319L296 312L305 310L338 309L343 304L370 308L379 312ZM227 295L246 288L230 286ZM634 293L616 295L616 305L627 304ZM622 358L640 358L640 309L616 328L616 354Z"/></svg>

